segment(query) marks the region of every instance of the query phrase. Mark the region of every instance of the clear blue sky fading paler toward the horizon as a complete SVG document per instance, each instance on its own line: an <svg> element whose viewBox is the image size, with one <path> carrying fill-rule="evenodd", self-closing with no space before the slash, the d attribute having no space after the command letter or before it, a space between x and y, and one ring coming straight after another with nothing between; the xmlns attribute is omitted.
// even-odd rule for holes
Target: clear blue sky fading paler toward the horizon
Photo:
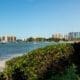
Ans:
<svg viewBox="0 0 80 80"><path fill-rule="evenodd" d="M80 0L0 0L0 35L50 37L80 32Z"/></svg>

